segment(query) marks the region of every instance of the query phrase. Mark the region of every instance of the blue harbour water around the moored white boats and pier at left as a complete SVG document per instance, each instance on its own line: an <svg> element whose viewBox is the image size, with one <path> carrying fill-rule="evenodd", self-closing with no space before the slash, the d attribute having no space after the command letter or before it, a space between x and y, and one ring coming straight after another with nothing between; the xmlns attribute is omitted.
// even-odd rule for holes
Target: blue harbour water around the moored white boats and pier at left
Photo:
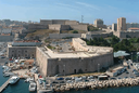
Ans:
<svg viewBox="0 0 139 93"><path fill-rule="evenodd" d="M3 77L2 67L0 66L0 87L8 80L9 78ZM24 79L21 79L14 85L8 85L8 88L2 93L29 93L28 91L29 83L25 83ZM36 93L36 92L31 92Z"/></svg>

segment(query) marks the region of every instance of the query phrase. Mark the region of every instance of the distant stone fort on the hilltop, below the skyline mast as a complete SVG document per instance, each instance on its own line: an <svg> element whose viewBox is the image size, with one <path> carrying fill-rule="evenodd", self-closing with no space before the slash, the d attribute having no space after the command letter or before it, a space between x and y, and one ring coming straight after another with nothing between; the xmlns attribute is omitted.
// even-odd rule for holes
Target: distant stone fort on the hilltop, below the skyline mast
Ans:
<svg viewBox="0 0 139 93"><path fill-rule="evenodd" d="M28 29L53 29L53 30L85 30L89 24L68 19L40 19L39 24L29 24Z"/></svg>

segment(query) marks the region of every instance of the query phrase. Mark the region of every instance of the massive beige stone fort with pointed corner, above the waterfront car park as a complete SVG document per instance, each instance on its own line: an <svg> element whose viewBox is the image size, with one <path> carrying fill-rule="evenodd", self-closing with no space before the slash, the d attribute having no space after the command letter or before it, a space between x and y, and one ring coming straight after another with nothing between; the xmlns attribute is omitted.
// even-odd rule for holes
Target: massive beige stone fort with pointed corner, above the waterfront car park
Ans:
<svg viewBox="0 0 139 93"><path fill-rule="evenodd" d="M36 59L43 76L92 72L113 65L113 49L89 46L74 38L73 52L54 52L47 46L37 48Z"/></svg>

